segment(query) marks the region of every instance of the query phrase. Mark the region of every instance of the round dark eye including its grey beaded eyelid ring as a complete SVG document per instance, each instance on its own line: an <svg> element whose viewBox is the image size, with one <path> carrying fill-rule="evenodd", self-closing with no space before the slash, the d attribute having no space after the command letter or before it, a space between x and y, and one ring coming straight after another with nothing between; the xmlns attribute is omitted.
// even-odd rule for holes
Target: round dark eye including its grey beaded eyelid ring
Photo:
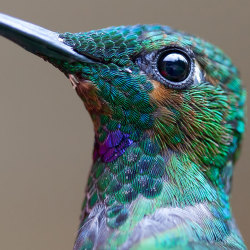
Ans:
<svg viewBox="0 0 250 250"><path fill-rule="evenodd" d="M159 69L159 64L162 62L165 63L164 67L167 67L167 72ZM155 55L152 68L153 74L159 82L169 88L185 89L193 84L195 69L193 51L183 47L168 46Z"/></svg>

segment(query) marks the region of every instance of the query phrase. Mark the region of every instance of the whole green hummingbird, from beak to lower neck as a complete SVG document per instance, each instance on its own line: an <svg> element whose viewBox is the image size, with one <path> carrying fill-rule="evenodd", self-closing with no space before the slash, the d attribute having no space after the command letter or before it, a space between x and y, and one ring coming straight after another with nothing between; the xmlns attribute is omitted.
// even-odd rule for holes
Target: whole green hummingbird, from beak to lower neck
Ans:
<svg viewBox="0 0 250 250"><path fill-rule="evenodd" d="M246 92L231 59L163 25L0 34L67 78L95 132L74 250L246 249L230 207Z"/></svg>

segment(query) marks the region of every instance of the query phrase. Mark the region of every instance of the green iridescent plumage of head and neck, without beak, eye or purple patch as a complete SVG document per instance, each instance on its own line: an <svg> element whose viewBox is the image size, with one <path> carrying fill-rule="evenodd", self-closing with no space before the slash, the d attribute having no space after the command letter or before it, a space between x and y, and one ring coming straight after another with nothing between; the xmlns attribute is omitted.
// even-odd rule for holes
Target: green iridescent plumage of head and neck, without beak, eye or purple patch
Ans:
<svg viewBox="0 0 250 250"><path fill-rule="evenodd" d="M111 27L61 38L99 62L57 63L64 72L91 81L107 106L106 112L90 112L98 128L96 141L103 143L118 130L132 141L114 160L95 160L76 248L244 248L229 205L245 103L231 60L210 43L163 26ZM184 90L159 87L136 59L167 46L192 50L205 80ZM102 232L86 232L95 214L91 211L100 204L105 239ZM180 209L180 214L193 209L199 218L152 234L141 230L146 218L156 223L161 209Z"/></svg>

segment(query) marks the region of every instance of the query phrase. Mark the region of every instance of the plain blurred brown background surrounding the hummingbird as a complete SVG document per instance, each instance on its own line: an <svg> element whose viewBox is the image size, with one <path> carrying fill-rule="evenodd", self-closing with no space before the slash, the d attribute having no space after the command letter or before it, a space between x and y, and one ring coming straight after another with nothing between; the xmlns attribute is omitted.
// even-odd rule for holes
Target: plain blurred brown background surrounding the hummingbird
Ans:
<svg viewBox="0 0 250 250"><path fill-rule="evenodd" d="M223 48L249 89L249 0L1 0L1 11L60 32L173 26ZM51 65L2 38L0 55L0 249L72 249L91 165L90 118ZM249 140L248 131L232 193L248 246Z"/></svg>

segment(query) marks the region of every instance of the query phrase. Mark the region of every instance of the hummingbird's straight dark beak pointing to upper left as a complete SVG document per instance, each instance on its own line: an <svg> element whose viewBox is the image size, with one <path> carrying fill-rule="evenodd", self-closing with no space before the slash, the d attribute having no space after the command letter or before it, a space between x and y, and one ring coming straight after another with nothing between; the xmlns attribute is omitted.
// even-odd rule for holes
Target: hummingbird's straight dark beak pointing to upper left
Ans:
<svg viewBox="0 0 250 250"><path fill-rule="evenodd" d="M0 35L41 57L70 63L96 63L64 44L59 38L59 33L2 13L0 13Z"/></svg>

